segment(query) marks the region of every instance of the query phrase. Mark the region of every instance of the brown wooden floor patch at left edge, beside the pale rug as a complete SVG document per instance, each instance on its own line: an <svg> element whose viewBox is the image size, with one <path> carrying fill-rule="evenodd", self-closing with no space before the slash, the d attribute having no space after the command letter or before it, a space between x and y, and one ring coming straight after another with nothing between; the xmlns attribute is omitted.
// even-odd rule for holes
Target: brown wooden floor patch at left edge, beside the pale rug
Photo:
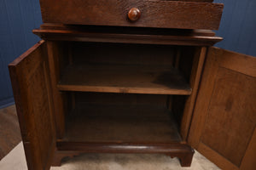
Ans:
<svg viewBox="0 0 256 170"><path fill-rule="evenodd" d="M21 141L15 105L0 109L0 160Z"/></svg>

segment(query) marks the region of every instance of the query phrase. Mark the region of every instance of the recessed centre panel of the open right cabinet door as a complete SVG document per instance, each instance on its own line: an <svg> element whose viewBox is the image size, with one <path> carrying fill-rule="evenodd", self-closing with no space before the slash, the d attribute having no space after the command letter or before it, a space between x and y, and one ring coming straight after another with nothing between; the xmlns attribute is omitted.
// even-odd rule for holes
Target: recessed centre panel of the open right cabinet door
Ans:
<svg viewBox="0 0 256 170"><path fill-rule="evenodd" d="M239 167L256 124L256 78L222 68L217 77L201 141Z"/></svg>

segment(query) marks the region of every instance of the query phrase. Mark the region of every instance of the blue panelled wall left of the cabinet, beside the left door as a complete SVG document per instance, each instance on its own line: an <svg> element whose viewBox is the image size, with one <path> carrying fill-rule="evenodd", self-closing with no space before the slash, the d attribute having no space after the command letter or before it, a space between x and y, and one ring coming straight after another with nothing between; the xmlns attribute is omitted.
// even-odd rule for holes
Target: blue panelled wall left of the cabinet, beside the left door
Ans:
<svg viewBox="0 0 256 170"><path fill-rule="evenodd" d="M7 65L38 42L41 23L39 0L0 0L0 108L14 102Z"/></svg>

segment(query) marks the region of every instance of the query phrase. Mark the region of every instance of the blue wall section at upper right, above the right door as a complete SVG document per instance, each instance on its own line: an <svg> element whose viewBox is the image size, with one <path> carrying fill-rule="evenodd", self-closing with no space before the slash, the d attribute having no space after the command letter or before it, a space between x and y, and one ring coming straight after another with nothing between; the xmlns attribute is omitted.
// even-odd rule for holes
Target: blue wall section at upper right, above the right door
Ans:
<svg viewBox="0 0 256 170"><path fill-rule="evenodd" d="M223 17L216 31L224 40L216 46L256 56L256 0L215 0L214 3L224 3Z"/></svg>

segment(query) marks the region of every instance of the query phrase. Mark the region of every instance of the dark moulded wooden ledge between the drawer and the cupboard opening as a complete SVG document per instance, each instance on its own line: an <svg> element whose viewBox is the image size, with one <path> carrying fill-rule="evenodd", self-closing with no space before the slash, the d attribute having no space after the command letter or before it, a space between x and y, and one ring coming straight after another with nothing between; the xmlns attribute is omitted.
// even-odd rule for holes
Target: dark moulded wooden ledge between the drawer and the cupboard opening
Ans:
<svg viewBox="0 0 256 170"><path fill-rule="evenodd" d="M45 40L211 46L223 38L212 31L162 30L46 24L33 33Z"/></svg>

